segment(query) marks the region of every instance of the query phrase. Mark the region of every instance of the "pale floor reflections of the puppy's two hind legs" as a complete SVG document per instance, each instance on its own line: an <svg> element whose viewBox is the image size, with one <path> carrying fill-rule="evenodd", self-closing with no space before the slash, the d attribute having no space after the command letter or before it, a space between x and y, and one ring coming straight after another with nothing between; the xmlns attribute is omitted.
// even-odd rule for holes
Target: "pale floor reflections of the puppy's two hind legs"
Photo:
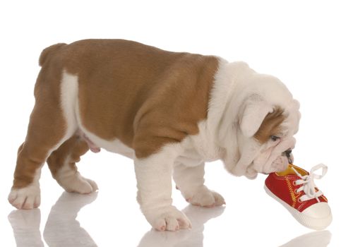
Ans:
<svg viewBox="0 0 353 247"><path fill-rule="evenodd" d="M80 209L92 203L97 193L62 193L50 210L43 237L48 246L97 246L76 220ZM40 210L14 210L8 215L18 247L44 246L40 234Z"/></svg>

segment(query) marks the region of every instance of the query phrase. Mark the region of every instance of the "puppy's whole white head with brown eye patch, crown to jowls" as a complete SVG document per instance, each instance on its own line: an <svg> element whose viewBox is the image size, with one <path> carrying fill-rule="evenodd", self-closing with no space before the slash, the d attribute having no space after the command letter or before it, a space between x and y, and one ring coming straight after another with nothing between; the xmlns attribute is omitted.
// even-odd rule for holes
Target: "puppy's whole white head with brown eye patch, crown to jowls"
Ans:
<svg viewBox="0 0 353 247"><path fill-rule="evenodd" d="M233 174L254 178L285 170L293 161L293 135L299 128L299 102L273 76L249 80L237 116L238 162Z"/></svg>

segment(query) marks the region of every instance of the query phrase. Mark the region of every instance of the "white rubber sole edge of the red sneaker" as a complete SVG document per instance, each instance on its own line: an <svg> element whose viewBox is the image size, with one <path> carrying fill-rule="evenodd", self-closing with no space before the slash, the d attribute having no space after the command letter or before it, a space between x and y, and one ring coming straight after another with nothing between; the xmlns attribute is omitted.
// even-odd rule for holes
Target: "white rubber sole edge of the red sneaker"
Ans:
<svg viewBox="0 0 353 247"><path fill-rule="evenodd" d="M281 203L287 210L291 213L291 215L294 217L294 219L297 219L297 221L302 224L304 227L308 227L310 229L315 229L315 230L323 230L328 225L331 224L332 222L332 214L328 215L327 217L324 218L313 218L309 217L308 215L304 215L303 213L299 212L296 210L294 207L289 206L287 203L285 203L283 200L277 197L270 189L267 188L265 185L263 188L265 188L266 193L270 195L273 199L277 200L277 202Z"/></svg>

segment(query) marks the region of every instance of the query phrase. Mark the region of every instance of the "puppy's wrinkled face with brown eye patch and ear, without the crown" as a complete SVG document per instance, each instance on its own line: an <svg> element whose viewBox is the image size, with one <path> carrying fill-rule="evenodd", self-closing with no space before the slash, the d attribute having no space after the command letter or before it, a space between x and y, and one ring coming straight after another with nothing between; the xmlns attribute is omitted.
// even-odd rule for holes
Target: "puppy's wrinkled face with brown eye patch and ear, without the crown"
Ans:
<svg viewBox="0 0 353 247"><path fill-rule="evenodd" d="M246 176L254 178L258 172L285 170L293 162L293 135L298 131L299 119L297 100L279 106L251 99L240 116L238 171L242 167Z"/></svg>

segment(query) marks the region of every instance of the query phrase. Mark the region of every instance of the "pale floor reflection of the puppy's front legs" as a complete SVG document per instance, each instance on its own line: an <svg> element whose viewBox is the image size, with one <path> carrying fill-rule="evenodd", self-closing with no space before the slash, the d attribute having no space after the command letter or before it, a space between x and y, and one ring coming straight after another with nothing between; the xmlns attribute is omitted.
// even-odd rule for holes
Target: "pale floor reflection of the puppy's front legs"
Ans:
<svg viewBox="0 0 353 247"><path fill-rule="evenodd" d="M225 207L203 208L189 205L184 214L189 217L192 229L180 231L148 231L140 240L138 247L199 247L203 246L203 229L209 219L222 215Z"/></svg>

